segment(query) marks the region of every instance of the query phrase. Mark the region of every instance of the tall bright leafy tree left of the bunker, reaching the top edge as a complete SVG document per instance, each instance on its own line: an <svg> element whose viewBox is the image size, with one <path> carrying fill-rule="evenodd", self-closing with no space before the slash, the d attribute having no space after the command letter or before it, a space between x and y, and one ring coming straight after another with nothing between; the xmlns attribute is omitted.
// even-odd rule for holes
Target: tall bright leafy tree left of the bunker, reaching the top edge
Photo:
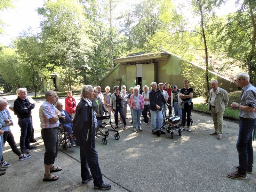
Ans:
<svg viewBox="0 0 256 192"><path fill-rule="evenodd" d="M60 68L64 88L72 90L72 83L88 64L94 46L89 34L91 23L77 1L47 1L37 11L44 17L40 39L49 61Z"/></svg>

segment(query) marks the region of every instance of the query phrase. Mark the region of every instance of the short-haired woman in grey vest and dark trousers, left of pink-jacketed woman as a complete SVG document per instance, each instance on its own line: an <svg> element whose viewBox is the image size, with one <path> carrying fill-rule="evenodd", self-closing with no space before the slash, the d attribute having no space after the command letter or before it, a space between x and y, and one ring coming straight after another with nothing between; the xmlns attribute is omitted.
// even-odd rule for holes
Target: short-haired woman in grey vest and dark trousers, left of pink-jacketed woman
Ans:
<svg viewBox="0 0 256 192"><path fill-rule="evenodd" d="M115 128L118 128L118 112L119 112L124 122L124 129L126 129L127 126L126 126L126 119L124 117L124 103L123 103L124 94L119 91L119 86L117 85L114 86L113 89L114 89L114 93L110 97L110 107L115 117L115 123L116 123Z"/></svg>

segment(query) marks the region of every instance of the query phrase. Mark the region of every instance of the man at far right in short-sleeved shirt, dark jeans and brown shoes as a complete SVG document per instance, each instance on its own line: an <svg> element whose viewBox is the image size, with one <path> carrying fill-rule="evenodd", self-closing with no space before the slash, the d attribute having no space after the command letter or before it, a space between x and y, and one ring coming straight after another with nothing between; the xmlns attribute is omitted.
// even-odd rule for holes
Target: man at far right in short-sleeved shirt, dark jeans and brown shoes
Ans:
<svg viewBox="0 0 256 192"><path fill-rule="evenodd" d="M249 83L250 77L246 73L236 76L236 84L242 88L241 103L233 102L231 107L239 109L239 133L236 142L239 165L236 172L227 176L232 179L247 179L246 173L252 174L253 148L252 131L256 125L256 88Z"/></svg>

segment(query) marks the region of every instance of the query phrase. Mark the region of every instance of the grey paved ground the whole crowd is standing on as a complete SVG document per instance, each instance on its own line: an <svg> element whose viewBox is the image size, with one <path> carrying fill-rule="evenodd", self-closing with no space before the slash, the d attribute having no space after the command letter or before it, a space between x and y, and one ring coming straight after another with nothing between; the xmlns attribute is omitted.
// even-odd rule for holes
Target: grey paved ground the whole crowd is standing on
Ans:
<svg viewBox="0 0 256 192"><path fill-rule="evenodd" d="M5 96L8 99L8 96ZM78 97L75 97L77 100ZM8 104L14 98L10 98ZM64 98L61 98L64 101ZM4 148L4 160L12 164L1 176L2 191L95 191L93 182L81 182L79 147L60 148L55 161L62 171L60 179L43 182L44 143L41 139L38 109L43 99L37 100L33 111L33 122L37 148L30 152L30 159L19 161L8 144ZM20 128L12 113L11 128L19 146ZM128 113L128 129L120 128L120 139L115 140L109 132L108 144L102 137L96 140L100 168L104 181L111 183L111 191L256 191L256 169L247 180L232 180L226 174L236 171L238 164L236 140L238 124L224 121L222 140L210 136L213 131L212 118L192 113L192 132L174 132L157 137L150 125L142 124L142 131L133 132ZM143 120L142 120L143 122ZM253 142L254 154L256 142ZM254 156L255 157L255 156Z"/></svg>

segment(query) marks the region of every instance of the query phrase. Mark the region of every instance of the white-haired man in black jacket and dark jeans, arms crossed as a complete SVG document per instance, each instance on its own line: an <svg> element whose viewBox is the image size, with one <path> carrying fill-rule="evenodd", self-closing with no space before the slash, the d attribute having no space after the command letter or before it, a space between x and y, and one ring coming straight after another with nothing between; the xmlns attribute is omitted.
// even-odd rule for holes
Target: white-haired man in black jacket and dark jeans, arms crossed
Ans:
<svg viewBox="0 0 256 192"><path fill-rule="evenodd" d="M36 147L30 145L30 137L32 135L32 120L31 110L35 108L34 104L31 104L27 97L27 89L20 88L16 91L18 97L14 101L13 111L18 117L18 124L20 126L20 150L23 154L28 154L30 149Z"/></svg>

